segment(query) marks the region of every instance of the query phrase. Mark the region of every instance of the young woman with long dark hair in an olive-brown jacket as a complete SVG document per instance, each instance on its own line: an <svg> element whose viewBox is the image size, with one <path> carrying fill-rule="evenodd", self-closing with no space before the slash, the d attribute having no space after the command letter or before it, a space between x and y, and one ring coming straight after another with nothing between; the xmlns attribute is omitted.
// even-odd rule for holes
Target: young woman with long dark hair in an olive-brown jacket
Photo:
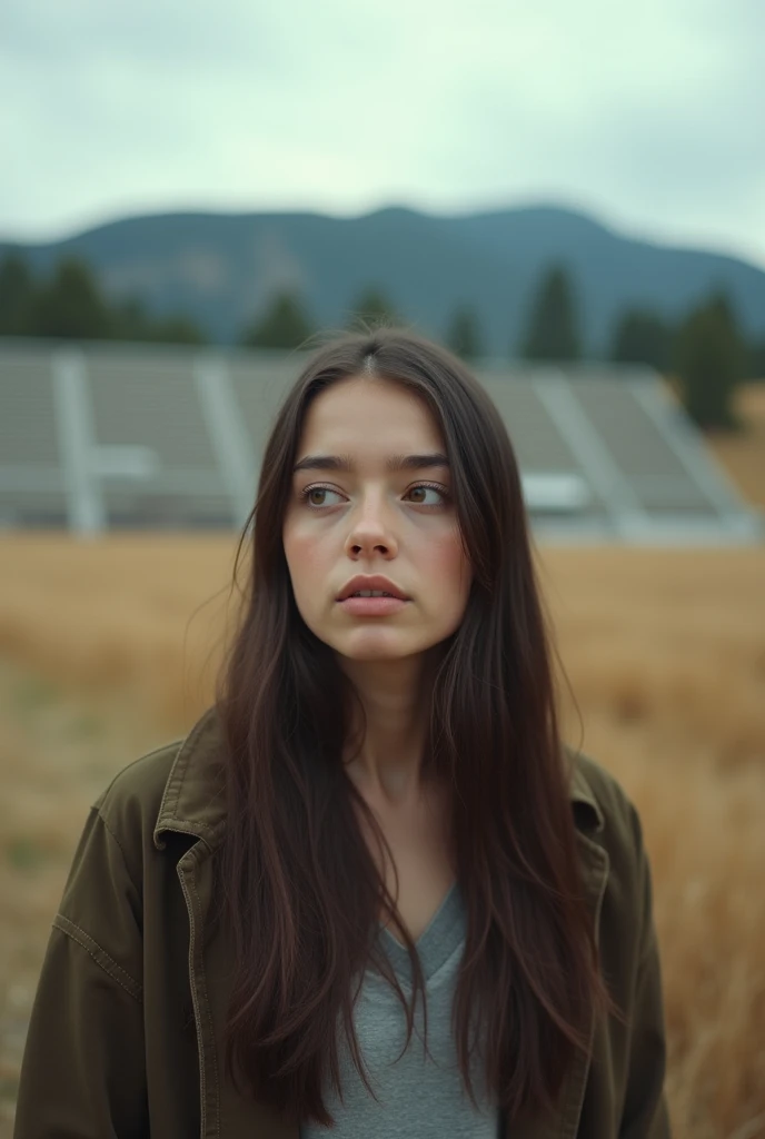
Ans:
<svg viewBox="0 0 765 1139"><path fill-rule="evenodd" d="M247 533L215 705L85 823L16 1139L666 1139L640 819L560 739L485 390L324 344Z"/></svg>

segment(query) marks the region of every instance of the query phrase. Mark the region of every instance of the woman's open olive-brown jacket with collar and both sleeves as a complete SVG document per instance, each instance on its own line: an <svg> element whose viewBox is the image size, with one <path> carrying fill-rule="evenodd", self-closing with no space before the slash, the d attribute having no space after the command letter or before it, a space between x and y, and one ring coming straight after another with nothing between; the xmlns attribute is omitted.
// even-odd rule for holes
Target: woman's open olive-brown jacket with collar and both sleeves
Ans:
<svg viewBox="0 0 765 1139"><path fill-rule="evenodd" d="M223 1072L231 958L224 936L205 928L225 823L219 761L211 708L182 744L135 760L93 804L34 1000L15 1139L298 1139ZM570 800L604 975L630 1024L593 1024L556 1120L516 1123L511 1137L667 1139L640 820L614 777L581 753Z"/></svg>

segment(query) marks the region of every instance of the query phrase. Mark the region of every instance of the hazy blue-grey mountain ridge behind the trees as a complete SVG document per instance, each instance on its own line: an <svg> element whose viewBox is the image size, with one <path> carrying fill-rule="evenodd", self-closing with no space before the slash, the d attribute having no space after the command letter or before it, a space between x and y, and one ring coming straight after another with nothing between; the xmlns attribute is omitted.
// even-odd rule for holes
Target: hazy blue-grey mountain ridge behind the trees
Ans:
<svg viewBox="0 0 765 1139"><path fill-rule="evenodd" d="M429 214L402 205L356 216L318 211L167 211L102 222L57 240L0 239L47 272L83 256L114 298L158 316L182 310L221 343L281 288L299 289L323 327L343 327L359 293L380 287L404 320L442 337L458 304L475 306L485 349L518 349L533 294L553 261L577 287L587 354L602 354L625 308L676 320L713 288L729 293L749 336L765 336L765 270L730 254L626 237L594 215L550 204Z"/></svg>

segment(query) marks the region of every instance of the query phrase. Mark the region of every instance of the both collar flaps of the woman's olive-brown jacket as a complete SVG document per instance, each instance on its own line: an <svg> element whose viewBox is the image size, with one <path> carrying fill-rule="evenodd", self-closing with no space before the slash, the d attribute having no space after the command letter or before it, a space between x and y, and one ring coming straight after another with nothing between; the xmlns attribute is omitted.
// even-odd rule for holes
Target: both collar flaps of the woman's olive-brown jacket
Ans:
<svg viewBox="0 0 765 1139"><path fill-rule="evenodd" d="M603 812L586 779L577 753L568 745L569 800L574 822L579 830L603 829ZM181 741L165 784L154 829L155 846L162 849L163 830L175 830L201 838L214 850L225 827L225 795L221 767L221 728L216 708L208 708Z"/></svg>

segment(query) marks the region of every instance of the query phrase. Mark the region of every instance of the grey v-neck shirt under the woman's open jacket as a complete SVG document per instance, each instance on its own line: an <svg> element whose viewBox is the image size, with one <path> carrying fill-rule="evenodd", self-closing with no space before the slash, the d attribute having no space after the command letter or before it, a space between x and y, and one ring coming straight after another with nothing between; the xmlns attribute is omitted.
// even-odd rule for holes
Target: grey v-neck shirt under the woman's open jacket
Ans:
<svg viewBox="0 0 765 1139"><path fill-rule="evenodd" d="M409 954L389 929L379 936L398 982L411 1002L412 969ZM483 1066L474 1051L472 1087L479 1111L462 1087L452 1039L452 1000L464 950L466 911L458 883L444 898L429 925L416 942L426 983L428 1055L423 1048L422 998L418 994L414 1030L406 1051L404 1009L385 977L368 969L354 1006L359 1047L378 1101L369 1095L351 1057L345 1032L340 1032L340 1081L345 1104L331 1088L326 1103L335 1126L303 1124L301 1139L335 1136L337 1139L496 1139L499 1111L486 1093ZM397 1058L398 1057L398 1058ZM397 1058L397 1059L396 1059Z"/></svg>

